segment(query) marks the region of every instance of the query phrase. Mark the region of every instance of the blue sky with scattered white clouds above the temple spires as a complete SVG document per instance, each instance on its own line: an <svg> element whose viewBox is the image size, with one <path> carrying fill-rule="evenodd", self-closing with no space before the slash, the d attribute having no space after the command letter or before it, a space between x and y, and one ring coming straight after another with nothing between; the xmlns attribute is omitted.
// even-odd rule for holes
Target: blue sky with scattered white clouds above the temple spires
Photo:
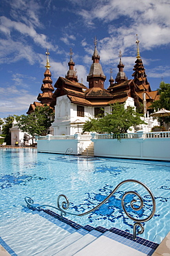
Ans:
<svg viewBox="0 0 170 256"><path fill-rule="evenodd" d="M65 77L70 48L78 80L87 86L94 37L109 86L115 79L118 54L131 79L140 56L151 89L170 83L169 0L2 0L0 3L0 118L21 115L41 93L46 48L50 51L53 85Z"/></svg>

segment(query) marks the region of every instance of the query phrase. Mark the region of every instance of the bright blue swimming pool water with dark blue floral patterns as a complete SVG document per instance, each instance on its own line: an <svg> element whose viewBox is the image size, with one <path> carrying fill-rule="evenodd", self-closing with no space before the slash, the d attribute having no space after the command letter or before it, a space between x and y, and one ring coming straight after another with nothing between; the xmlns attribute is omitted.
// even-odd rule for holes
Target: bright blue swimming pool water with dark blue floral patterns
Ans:
<svg viewBox="0 0 170 256"><path fill-rule="evenodd" d="M36 149L26 148L1 149L0 157L0 233L7 245L14 244L22 236L24 242L21 246L26 248L31 241L34 248L34 233L38 234L41 224L45 230L43 221L39 223L36 214L25 207L25 196L30 196L35 203L56 206L59 194L65 194L71 202L70 211L81 213L98 205L118 183L126 179L145 183L156 199L156 213L145 224L145 232L140 237L159 244L169 232L169 162L115 158L87 160L76 156L63 158L62 155L37 154ZM129 189L131 184L123 185L113 199L96 212L84 217L67 218L83 226L115 227L132 232L133 221L125 216L120 205L123 192ZM49 240L53 237L52 229Z"/></svg>

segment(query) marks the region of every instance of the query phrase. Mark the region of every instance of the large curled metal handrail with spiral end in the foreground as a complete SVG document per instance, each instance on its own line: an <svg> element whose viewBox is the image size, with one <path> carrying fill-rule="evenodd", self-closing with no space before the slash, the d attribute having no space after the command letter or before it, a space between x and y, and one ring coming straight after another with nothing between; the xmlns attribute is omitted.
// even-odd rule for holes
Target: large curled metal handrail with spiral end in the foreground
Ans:
<svg viewBox="0 0 170 256"><path fill-rule="evenodd" d="M57 198L57 207L55 206L52 206L52 205L35 205L34 204L34 201L26 196L25 197L25 202L27 203L27 206L28 208L34 208L36 210L41 210L41 208L45 208L45 207L50 207L50 208L54 208L56 210L59 210L61 212L61 217L63 217L63 215L66 215L66 214L70 214L70 215L75 215L75 216L84 216L86 214L89 214L91 212L94 212L95 210L97 210L98 208L100 208L101 205L103 205L115 192L116 190L118 190L118 188L120 188L121 185L127 183L127 182L134 182L134 183L138 183L140 185L142 185L146 190L147 192L149 192L150 196L151 196L151 200L152 200L152 210L151 210L151 214L146 217L145 219L136 219L134 217L131 217L131 215L127 212L127 210L125 209L125 202L124 202L124 199L125 199L125 196L127 196L127 194L134 194L135 196L138 196L138 199L140 201L140 206L138 207L135 207L134 206L134 203L137 202L136 199L132 199L131 202L130 202L130 205L131 205L131 208L135 211L137 210L141 210L142 207L143 207L143 200L142 200L142 197L140 196L140 194L138 194L138 192L135 192L135 191L129 191L129 192L125 192L125 194L123 194L123 197L122 197L122 200L121 200L121 204L122 204L122 207L123 207L123 210L125 212L125 214L127 214L127 217L129 217L129 219L131 219L132 221L136 221L134 223L134 235L133 235L133 238L136 239L136 232L137 232L137 226L140 227L140 230L137 232L137 235L139 234L142 234L145 230L145 228L143 227L142 223L141 222L146 222L146 221L149 221L149 219L151 219L156 211L156 201L154 199L154 196L151 192L151 190L149 190L149 188L147 187L147 185L145 185L144 183L140 182L140 181L136 181L134 179L128 179L128 180L125 180L125 181L122 181L120 182L116 188L114 188L114 190L109 194L109 196L107 196L101 203L99 203L96 207L92 208L91 210L88 210L87 212L83 212L81 214L75 214L75 213L72 213L72 212L66 212L66 210L69 208L69 200L67 199L67 196L65 196L64 194L60 194ZM62 203L60 204L60 199L61 197L63 197L65 199L65 201L62 201Z"/></svg>

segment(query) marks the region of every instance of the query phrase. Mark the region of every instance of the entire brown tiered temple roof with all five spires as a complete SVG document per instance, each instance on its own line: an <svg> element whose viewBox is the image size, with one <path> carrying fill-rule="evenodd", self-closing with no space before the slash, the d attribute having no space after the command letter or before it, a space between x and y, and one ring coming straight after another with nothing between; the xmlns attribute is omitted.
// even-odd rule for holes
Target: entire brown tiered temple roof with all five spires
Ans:
<svg viewBox="0 0 170 256"><path fill-rule="evenodd" d="M96 39L94 41L94 54L92 55L92 65L89 70L89 75L87 75L87 82L89 82L89 88L83 83L78 82L76 71L74 71L74 61L72 59L72 50L70 50L70 62L68 66L70 67L67 71L67 75L64 77L59 77L59 79L54 84L56 90L52 86L52 79L50 73L50 63L47 55L46 71L44 73L43 84L41 86L41 91L39 93L38 100L40 102L34 102L30 104L30 108L27 113L34 111L36 106L42 106L43 104L50 105L53 107L56 105L56 98L67 95L67 98L74 104L80 104L91 107L104 107L109 104L120 102L125 102L128 97L134 98L134 104L136 107L140 107L140 103L143 103L144 91L145 98L147 100L147 109L151 106L151 102L158 100L158 91L151 91L149 82L147 82L147 75L145 73L144 65L142 64L142 59L139 52L139 41L136 40L137 44L137 59L134 65L134 73L132 76L134 79L127 80L125 71L123 68L125 65L122 62L122 53L120 52L119 63L118 63L118 74L116 75L116 82L111 75L109 79L109 88L104 89L105 74L103 73L103 68L100 64L100 55L96 48ZM54 91L54 93L53 93Z"/></svg>

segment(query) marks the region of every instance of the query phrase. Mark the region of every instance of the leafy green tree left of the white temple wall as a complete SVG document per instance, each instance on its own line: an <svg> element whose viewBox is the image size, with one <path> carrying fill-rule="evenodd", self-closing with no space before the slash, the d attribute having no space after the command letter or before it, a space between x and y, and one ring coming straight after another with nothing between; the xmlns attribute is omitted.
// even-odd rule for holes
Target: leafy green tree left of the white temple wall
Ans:
<svg viewBox="0 0 170 256"><path fill-rule="evenodd" d="M32 137L42 136L49 132L52 125L54 111L49 106L36 107L30 115L21 115L17 118L17 125L21 131L28 132Z"/></svg>

